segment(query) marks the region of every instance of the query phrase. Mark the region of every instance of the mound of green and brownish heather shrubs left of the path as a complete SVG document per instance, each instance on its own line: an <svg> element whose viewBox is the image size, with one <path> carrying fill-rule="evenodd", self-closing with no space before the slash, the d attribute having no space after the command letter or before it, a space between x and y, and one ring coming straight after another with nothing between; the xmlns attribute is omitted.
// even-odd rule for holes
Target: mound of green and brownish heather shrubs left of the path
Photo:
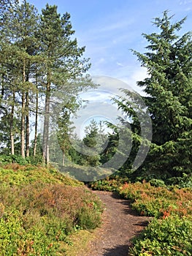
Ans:
<svg viewBox="0 0 192 256"><path fill-rule="evenodd" d="M100 224L101 201L79 181L51 168L7 167L0 169L2 255L63 255L69 233Z"/></svg>

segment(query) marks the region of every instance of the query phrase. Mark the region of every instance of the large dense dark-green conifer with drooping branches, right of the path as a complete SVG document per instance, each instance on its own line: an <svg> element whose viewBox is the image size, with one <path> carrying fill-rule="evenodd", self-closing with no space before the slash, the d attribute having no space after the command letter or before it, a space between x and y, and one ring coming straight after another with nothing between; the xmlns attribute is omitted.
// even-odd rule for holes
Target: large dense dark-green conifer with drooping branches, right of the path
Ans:
<svg viewBox="0 0 192 256"><path fill-rule="evenodd" d="M137 94L127 89L122 90L124 96L113 99L125 116L120 120L121 123L131 127L129 129L132 132L131 152L120 168L122 173L130 173L142 143L149 146L150 142L142 138L141 124L145 122L150 128L146 116L150 116L152 121L153 138L150 152L135 174L137 181L144 178L150 181L155 178L163 179L167 184L167 178L182 177L183 173L191 173L191 31L180 36L185 18L175 23L172 19L173 16L169 16L168 11L163 13L162 18L155 18L155 32L143 34L148 43L147 52L139 53L133 50L142 67L147 69L147 78L137 82L138 86L144 87L147 94L142 97L143 102ZM109 159L117 148L116 132L110 136L110 143L105 152L108 155L103 159Z"/></svg>

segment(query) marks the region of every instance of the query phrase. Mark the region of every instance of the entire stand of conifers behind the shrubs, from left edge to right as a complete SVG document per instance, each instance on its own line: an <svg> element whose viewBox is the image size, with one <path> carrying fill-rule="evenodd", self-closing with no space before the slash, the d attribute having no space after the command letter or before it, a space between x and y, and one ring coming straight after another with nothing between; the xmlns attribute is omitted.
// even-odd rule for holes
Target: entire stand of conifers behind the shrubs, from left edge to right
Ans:
<svg viewBox="0 0 192 256"><path fill-rule="evenodd" d="M27 1L23 4L3 1L0 15L1 155L9 156L12 161L21 156L28 162L57 162L57 148L51 143L56 136L62 165L68 157L82 169L104 166L116 154L112 167L120 176L148 181L155 178L169 183L183 178L191 180L191 31L180 35L185 18L174 23L165 11L162 18L153 21L155 32L143 34L148 42L147 51L132 50L147 69L147 78L137 82L146 96L142 97L145 107L137 94L127 89L123 90L123 97L113 99L126 116L120 120L126 131L107 123L113 132L106 135L102 124L92 120L85 129L85 138L80 140L72 135L70 116L82 107L80 91L96 85L88 75L91 63L83 57L85 47L80 48L74 38L69 13L61 15L56 6L49 4L39 13ZM57 119L50 115L54 109ZM145 115L141 120L143 113L152 122L151 141L142 136L142 122L146 121ZM44 117L43 132L38 131L40 116ZM57 127L55 134L51 132L53 125ZM122 134L125 140L119 139ZM120 148L126 148L129 137L130 154L123 166L118 167L117 151L122 157L124 152ZM106 140L108 143L99 154L91 155L88 151L79 153L72 146L73 139L79 145L84 143L89 151L98 145L102 148ZM139 148L142 146L145 151L149 145L145 161L139 168L133 168Z"/></svg>

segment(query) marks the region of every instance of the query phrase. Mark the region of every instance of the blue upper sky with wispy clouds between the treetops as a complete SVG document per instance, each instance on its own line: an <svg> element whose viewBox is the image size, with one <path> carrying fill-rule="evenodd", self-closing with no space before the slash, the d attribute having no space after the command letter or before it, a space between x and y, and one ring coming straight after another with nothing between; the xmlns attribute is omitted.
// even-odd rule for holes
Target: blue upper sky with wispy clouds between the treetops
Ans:
<svg viewBox="0 0 192 256"><path fill-rule="evenodd" d="M183 33L192 30L192 0L29 0L40 11L47 2L58 6L58 12L69 12L75 37L86 46L85 56L91 58L91 75L107 75L135 87L146 77L137 57L130 49L145 51L142 33L151 33L153 18L164 10L173 20L188 19Z"/></svg>

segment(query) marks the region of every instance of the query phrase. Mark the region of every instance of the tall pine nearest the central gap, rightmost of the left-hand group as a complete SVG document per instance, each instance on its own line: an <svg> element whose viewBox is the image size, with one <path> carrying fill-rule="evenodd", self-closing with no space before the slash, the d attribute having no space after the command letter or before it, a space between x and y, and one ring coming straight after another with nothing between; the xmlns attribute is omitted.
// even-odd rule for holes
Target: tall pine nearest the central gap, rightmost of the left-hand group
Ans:
<svg viewBox="0 0 192 256"><path fill-rule="evenodd" d="M42 85L45 88L45 122L43 132L43 158L49 162L50 97L53 91L63 90L73 94L69 80L77 79L88 70L88 59L83 59L85 47L79 48L77 39L72 39L74 31L69 13L58 14L55 5L46 5L42 10L39 40L42 64ZM66 86L67 83L67 86Z"/></svg>

